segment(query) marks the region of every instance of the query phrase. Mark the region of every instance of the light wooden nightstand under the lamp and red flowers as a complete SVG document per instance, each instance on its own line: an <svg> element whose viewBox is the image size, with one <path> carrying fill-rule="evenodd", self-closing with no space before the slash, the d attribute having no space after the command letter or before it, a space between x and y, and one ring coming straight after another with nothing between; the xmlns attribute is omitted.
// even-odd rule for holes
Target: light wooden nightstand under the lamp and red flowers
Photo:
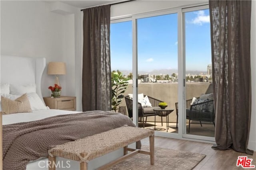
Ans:
<svg viewBox="0 0 256 170"><path fill-rule="evenodd" d="M60 98L44 97L46 106L50 109L76 111L76 97L60 96Z"/></svg>

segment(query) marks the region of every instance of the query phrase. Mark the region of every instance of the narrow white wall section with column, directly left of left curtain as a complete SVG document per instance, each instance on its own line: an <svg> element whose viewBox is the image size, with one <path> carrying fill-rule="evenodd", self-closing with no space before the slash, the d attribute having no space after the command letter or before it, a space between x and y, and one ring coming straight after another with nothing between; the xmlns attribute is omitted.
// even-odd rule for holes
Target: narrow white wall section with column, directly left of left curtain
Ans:
<svg viewBox="0 0 256 170"><path fill-rule="evenodd" d="M63 47L64 59L70 66L66 75L66 95L76 96L76 110L82 111L82 12L61 2L52 3L51 11L66 15Z"/></svg>

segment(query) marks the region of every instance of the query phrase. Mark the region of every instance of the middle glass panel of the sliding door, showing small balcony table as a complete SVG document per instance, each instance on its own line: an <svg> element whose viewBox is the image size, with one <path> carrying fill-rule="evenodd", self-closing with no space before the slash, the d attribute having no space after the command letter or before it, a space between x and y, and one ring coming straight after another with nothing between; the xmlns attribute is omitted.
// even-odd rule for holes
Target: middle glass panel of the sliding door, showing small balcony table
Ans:
<svg viewBox="0 0 256 170"><path fill-rule="evenodd" d="M178 14L138 18L137 47L138 93L149 100L145 105L142 100L144 116L149 115L144 126L156 125L156 131L178 133L174 109L178 101ZM168 107L154 111L160 109L160 102L166 102ZM154 112L156 117L152 116Z"/></svg>

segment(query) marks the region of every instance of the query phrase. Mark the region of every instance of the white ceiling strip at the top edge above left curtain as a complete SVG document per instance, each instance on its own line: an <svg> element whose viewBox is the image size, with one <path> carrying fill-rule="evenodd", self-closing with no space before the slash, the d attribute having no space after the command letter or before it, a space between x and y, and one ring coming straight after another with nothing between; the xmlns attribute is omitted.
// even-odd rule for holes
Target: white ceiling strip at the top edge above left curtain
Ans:
<svg viewBox="0 0 256 170"><path fill-rule="evenodd" d="M127 0L51 0L48 2L62 2L68 4L70 6L78 7L78 8L88 8L93 6L100 6L106 4L114 4L117 2L123 2Z"/></svg>

